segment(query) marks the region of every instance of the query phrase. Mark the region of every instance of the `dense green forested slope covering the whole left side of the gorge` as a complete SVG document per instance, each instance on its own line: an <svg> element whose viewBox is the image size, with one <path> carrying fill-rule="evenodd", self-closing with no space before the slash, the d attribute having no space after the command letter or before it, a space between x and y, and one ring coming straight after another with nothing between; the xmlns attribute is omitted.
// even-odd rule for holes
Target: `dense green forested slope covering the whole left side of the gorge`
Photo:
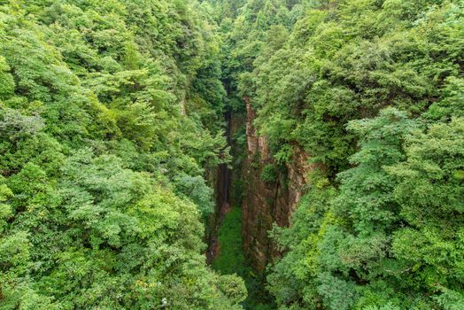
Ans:
<svg viewBox="0 0 464 310"><path fill-rule="evenodd" d="M0 308L240 309L205 266L228 162L195 1L0 4Z"/></svg>

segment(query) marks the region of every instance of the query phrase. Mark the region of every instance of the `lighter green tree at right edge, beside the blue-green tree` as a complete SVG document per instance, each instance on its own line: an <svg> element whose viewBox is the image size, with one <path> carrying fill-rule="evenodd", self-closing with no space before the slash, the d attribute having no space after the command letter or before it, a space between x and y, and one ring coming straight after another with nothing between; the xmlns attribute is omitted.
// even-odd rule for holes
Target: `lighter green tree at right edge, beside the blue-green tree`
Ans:
<svg viewBox="0 0 464 310"><path fill-rule="evenodd" d="M414 266L408 281L444 292L437 299L444 308L464 300L464 192L459 177L464 167L463 124L462 118L453 118L408 136L407 160L387 169L398 177L394 194L407 223L393 235L392 252ZM446 303L448 294L455 297Z"/></svg>

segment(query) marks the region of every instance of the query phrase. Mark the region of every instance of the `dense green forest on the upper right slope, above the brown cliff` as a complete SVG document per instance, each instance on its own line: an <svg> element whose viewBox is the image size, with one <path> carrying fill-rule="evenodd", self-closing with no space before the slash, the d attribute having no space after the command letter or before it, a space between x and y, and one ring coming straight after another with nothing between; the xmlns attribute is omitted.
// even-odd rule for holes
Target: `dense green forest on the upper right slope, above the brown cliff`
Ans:
<svg viewBox="0 0 464 310"><path fill-rule="evenodd" d="M267 5L244 6L236 31L252 35L231 35L230 70L274 154L299 143L335 176L355 151L355 136L345 130L350 120L388 105L413 113L431 105L435 120L460 113L461 4L409 3L323 1L306 3L305 12L297 5L286 15L297 14L290 35L292 23L272 13L267 27L248 26L259 15L251 8L266 12Z"/></svg>

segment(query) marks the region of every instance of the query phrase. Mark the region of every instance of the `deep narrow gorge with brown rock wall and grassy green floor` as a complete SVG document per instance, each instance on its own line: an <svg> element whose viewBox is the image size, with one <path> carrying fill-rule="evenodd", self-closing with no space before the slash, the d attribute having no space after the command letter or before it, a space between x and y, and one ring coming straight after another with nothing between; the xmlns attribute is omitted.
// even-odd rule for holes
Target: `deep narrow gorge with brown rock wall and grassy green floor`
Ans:
<svg viewBox="0 0 464 310"><path fill-rule="evenodd" d="M249 99L245 97L243 103L244 112L225 113L226 138L233 159L216 173L217 205L208 229L206 257L214 269L245 279L247 308L265 305L272 309L265 289L265 269L282 252L270 233L275 225L290 225L313 166L305 151L295 144L289 163L278 167L266 136L259 136L253 125L256 114ZM242 141L240 135L244 135Z"/></svg>

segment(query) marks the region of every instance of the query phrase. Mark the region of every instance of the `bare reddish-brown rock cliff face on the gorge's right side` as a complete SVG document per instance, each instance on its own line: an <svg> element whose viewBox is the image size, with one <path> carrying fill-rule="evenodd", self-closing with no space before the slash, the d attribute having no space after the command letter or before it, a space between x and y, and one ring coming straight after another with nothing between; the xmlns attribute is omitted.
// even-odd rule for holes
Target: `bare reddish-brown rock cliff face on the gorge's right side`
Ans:
<svg viewBox="0 0 464 310"><path fill-rule="evenodd" d="M279 255L268 232L274 223L281 227L289 225L290 216L304 193L307 182L305 175L311 166L307 163L308 157L305 152L298 145L294 145L293 158L286 165L286 171L277 172L272 182L261 180L264 167L272 164L273 159L270 157L266 137L258 136L253 126L256 115L246 98L245 104L248 150L242 165L245 191L242 234L244 252L251 261L251 266L256 270L262 270Z"/></svg>

